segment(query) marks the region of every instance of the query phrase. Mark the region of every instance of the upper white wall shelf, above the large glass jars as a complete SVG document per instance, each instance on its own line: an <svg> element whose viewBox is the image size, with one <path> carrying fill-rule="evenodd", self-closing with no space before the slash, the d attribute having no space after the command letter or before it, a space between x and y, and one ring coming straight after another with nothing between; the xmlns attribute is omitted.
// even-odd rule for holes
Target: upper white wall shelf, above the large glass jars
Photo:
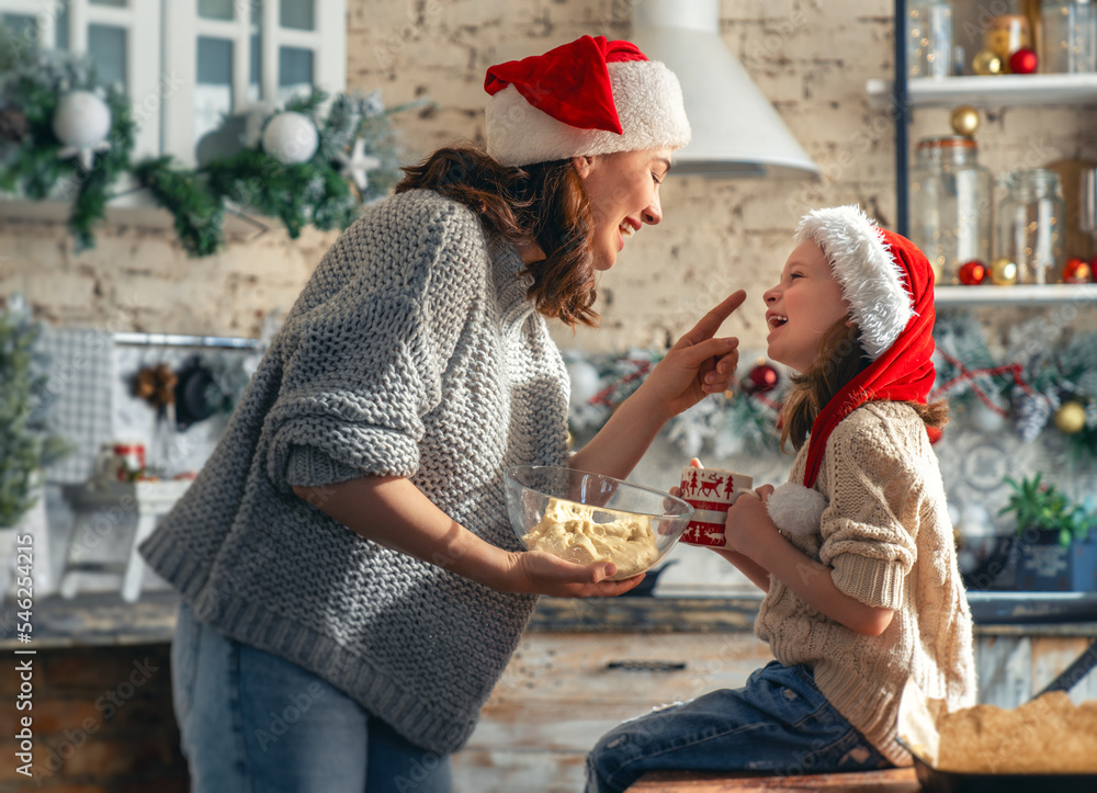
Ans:
<svg viewBox="0 0 1097 793"><path fill-rule="evenodd" d="M891 80L869 80L864 90L873 107L885 107L894 101ZM907 80L906 91L911 107L1097 104L1097 73L920 77Z"/></svg>

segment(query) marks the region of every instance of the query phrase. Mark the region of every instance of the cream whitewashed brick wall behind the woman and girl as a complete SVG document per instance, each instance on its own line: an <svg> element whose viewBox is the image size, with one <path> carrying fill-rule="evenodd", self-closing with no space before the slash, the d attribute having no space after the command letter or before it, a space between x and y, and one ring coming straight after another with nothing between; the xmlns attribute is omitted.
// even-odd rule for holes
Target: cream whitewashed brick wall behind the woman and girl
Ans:
<svg viewBox="0 0 1097 793"><path fill-rule="evenodd" d="M961 16L969 5L975 26L958 19L957 31L971 49L981 5L957 3ZM437 102L397 121L409 160L455 138L483 140L490 64L583 33L627 36L632 18L631 0L349 0L348 8L350 88L381 89L389 105L418 97ZM750 292L748 307L727 330L745 349L759 348L760 295L804 209L856 201L891 223L893 125L864 95L867 79L891 75L891 12L889 0L725 1L724 39L824 178L671 178L661 227L630 239L602 277L602 328L574 337L558 329L557 340L589 350L664 344L742 286ZM983 159L1002 172L1021 162L1097 158L1095 121L1093 107L995 111L980 133ZM912 139L947 132L947 111L916 113ZM61 325L256 335L265 310L289 307L332 239L306 233L291 241L274 230L194 260L168 231L114 226L100 233L97 250L76 254L63 225L0 223L0 294L23 291Z"/></svg>

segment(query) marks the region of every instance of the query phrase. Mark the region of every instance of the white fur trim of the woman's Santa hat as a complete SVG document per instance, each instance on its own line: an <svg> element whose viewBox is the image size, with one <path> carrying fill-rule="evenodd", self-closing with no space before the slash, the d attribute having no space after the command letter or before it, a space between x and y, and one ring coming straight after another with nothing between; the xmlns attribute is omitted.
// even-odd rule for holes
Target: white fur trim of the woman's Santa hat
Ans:
<svg viewBox="0 0 1097 793"><path fill-rule="evenodd" d="M689 121L675 72L657 60L607 66L623 134L556 121L507 86L487 101L488 155L505 166L528 166L581 155L678 149L689 143Z"/></svg>

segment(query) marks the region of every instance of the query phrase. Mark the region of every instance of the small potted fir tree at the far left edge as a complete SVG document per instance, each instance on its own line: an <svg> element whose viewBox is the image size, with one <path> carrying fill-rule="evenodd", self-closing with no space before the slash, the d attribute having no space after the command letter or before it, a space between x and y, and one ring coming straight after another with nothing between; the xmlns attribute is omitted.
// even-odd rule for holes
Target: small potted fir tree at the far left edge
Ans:
<svg viewBox="0 0 1097 793"><path fill-rule="evenodd" d="M47 384L34 354L41 332L22 298L12 297L0 307L0 599L14 565L15 535L27 533L20 531L21 522L42 498L42 469L68 451L37 409ZM38 522L45 522L44 516ZM34 567L47 565L48 558L42 557L45 537L34 544L39 546Z"/></svg>

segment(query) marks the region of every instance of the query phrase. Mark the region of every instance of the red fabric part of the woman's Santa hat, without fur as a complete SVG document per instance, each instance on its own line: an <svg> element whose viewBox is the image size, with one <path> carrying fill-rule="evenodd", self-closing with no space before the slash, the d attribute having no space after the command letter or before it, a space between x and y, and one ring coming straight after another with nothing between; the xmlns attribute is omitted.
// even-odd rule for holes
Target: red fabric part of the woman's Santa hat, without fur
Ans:
<svg viewBox="0 0 1097 793"><path fill-rule="evenodd" d="M621 60L647 60L647 56L632 42L583 36L544 55L493 66L484 78L484 90L494 97L513 86L527 102L558 122L621 135L607 68Z"/></svg>

